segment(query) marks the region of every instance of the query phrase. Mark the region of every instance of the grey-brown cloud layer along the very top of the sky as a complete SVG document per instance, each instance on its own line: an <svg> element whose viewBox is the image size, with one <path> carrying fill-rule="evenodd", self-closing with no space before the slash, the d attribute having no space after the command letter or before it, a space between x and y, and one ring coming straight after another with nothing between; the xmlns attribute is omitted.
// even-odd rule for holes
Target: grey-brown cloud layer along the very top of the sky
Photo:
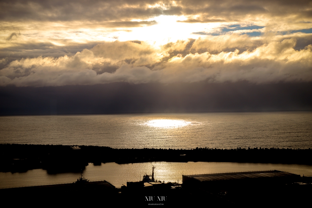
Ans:
<svg viewBox="0 0 312 208"><path fill-rule="evenodd" d="M150 7L152 6L152 7ZM311 2L299 1L248 1L230 0L210 1L85 1L85 0L4 0L0 3L0 19L5 21L116 21L130 19L148 19L158 15L200 15L199 20L240 19L246 15L268 14L285 16L295 14L311 17Z"/></svg>

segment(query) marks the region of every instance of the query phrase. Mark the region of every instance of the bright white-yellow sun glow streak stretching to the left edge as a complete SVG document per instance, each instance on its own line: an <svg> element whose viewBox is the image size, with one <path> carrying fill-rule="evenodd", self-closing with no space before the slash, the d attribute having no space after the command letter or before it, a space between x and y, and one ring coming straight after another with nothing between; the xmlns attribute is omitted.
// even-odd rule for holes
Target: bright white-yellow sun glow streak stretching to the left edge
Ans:
<svg viewBox="0 0 312 208"><path fill-rule="evenodd" d="M187 17L176 15L160 15L147 20L133 19L131 22L155 22L153 25L137 25L125 27L123 24L116 27L107 27L107 24L114 25L114 22L15 22L14 27L18 28L21 36L12 38L10 42L3 42L7 47L16 43L34 43L49 41L56 46L66 46L73 43L88 43L101 41L146 41L153 46L161 46L178 40L198 38L196 32L205 31L213 33L216 28L224 25L222 22L212 23L185 23ZM6 28L0 35L7 38L12 34L12 23L1 22L0 26ZM115 23L116 24L116 23ZM8 29L10 28L10 29Z"/></svg>

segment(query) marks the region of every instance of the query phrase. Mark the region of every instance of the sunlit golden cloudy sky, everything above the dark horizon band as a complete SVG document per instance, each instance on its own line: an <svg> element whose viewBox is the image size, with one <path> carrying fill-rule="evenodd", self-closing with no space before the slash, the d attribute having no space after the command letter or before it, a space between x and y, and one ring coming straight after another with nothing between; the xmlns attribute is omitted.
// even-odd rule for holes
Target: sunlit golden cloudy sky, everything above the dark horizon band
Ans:
<svg viewBox="0 0 312 208"><path fill-rule="evenodd" d="M25 2L0 2L0 86L312 80L310 2Z"/></svg>

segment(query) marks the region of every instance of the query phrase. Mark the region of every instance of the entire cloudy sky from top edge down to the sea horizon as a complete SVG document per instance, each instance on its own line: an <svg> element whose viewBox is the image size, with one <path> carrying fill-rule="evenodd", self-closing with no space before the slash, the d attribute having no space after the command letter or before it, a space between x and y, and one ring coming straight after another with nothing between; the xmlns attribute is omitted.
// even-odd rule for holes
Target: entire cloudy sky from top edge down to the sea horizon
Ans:
<svg viewBox="0 0 312 208"><path fill-rule="evenodd" d="M0 114L37 114L23 105L25 98L47 109L58 100L56 108L71 113L61 105L67 99L62 91L69 89L89 90L81 99L93 94L119 103L123 88L132 90L127 102L133 106L146 96L162 97L162 102L134 107L154 109L149 112L312 109L307 101L312 90L312 1L2 0L0 27ZM298 90L296 98L290 86ZM270 87L274 95L268 94ZM142 88L145 94L138 94ZM188 94L181 91L185 89ZM254 97L251 89L261 97L260 104L246 101ZM36 97L38 90L52 90L57 98L48 96L39 105L43 98ZM190 94L198 102L177 104L174 96L166 98L168 91L179 94L182 103ZM213 93L220 93L219 98L209 97ZM241 95L237 107L198 107ZM207 99L201 103L201 97ZM286 107L280 107L282 101ZM152 107L155 102L167 107ZM91 105L75 112L85 108ZM122 108L91 111L118 113Z"/></svg>

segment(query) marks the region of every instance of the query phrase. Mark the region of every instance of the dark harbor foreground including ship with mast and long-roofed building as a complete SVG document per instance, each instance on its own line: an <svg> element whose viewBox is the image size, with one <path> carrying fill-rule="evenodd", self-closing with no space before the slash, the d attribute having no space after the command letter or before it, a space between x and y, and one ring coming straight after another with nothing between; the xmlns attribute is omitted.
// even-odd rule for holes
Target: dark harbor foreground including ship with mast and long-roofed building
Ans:
<svg viewBox="0 0 312 208"><path fill-rule="evenodd" d="M145 174L142 181L127 181L121 187L105 180L90 181L81 172L72 183L5 188L0 189L0 194L10 200L18 196L22 203L34 197L36 203L53 199L52 204L81 197L79 203L88 204L90 197L123 205L131 201L138 205L191 205L200 200L209 201L210 205L233 206L259 200L274 205L300 205L303 201L298 197L306 198L312 193L312 176L279 170L182 175L183 181L178 184L155 179L155 168L152 165L152 173Z"/></svg>

